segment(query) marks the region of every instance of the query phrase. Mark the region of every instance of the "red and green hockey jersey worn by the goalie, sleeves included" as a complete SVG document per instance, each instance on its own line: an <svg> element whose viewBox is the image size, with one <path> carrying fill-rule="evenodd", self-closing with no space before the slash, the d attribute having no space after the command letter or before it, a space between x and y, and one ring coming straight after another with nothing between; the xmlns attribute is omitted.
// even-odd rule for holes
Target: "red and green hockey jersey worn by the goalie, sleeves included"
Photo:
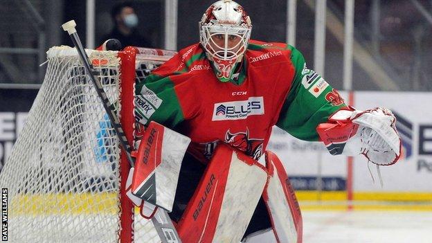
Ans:
<svg viewBox="0 0 432 243"><path fill-rule="evenodd" d="M217 143L258 159L273 125L318 141L316 126L346 106L336 90L307 69L296 48L253 40L236 80L217 80L195 44L136 84L135 105L139 123L154 120L190 137L190 152L201 161L210 159Z"/></svg>

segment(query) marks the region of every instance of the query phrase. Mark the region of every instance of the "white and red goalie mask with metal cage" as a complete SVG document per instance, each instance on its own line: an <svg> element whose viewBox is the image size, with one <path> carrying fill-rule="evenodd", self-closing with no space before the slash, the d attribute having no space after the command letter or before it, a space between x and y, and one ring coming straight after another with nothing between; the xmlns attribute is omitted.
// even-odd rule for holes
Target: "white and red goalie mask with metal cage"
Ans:
<svg viewBox="0 0 432 243"><path fill-rule="evenodd" d="M246 51L251 29L251 18L235 1L217 1L204 13L199 22L199 42L218 80L227 82L233 78Z"/></svg>

